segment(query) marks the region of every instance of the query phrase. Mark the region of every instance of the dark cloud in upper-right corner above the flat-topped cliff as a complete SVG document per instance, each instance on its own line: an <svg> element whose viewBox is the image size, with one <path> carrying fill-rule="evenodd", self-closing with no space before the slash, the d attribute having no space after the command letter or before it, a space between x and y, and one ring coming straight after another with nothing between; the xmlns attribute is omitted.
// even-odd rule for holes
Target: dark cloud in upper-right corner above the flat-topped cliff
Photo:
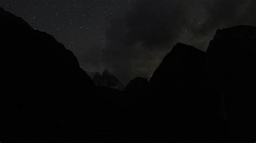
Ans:
<svg viewBox="0 0 256 143"><path fill-rule="evenodd" d="M256 12L255 9L250 8L250 5L253 3L255 6L255 1L253 0L205 1L204 11L207 15L204 17L199 31L194 32L197 32L197 34L207 34L208 31L226 26L241 24L254 25L255 18L246 18L248 15L254 15L253 12ZM248 10L250 13L246 13Z"/></svg>

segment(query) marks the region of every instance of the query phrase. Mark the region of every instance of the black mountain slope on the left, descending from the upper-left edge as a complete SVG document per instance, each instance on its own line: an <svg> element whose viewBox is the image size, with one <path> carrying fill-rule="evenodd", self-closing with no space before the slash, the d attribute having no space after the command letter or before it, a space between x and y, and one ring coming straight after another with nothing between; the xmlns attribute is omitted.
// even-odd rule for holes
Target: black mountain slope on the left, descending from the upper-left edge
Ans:
<svg viewBox="0 0 256 143"><path fill-rule="evenodd" d="M93 108L97 97L75 55L52 35L33 30L3 9L0 18L5 129L55 134L83 127L83 112Z"/></svg>

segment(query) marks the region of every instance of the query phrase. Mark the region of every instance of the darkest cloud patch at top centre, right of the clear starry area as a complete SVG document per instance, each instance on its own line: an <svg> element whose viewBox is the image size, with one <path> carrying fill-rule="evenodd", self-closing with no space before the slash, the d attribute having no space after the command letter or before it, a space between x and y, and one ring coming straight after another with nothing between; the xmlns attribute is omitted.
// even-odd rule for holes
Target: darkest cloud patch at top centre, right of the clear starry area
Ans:
<svg viewBox="0 0 256 143"><path fill-rule="evenodd" d="M124 17L111 19L107 38L129 47L142 42L146 48L156 48L178 37L187 15L186 4L181 1L139 1Z"/></svg>

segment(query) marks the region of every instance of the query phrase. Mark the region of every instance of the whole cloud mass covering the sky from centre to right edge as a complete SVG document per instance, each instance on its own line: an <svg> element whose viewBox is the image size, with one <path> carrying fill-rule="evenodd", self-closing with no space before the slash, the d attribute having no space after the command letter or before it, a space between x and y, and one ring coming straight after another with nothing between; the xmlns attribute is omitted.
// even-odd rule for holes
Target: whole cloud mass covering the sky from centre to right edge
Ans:
<svg viewBox="0 0 256 143"><path fill-rule="evenodd" d="M206 50L218 28L255 25L254 8L253 0L135 1L111 19L104 62L123 82L150 78L176 42Z"/></svg>

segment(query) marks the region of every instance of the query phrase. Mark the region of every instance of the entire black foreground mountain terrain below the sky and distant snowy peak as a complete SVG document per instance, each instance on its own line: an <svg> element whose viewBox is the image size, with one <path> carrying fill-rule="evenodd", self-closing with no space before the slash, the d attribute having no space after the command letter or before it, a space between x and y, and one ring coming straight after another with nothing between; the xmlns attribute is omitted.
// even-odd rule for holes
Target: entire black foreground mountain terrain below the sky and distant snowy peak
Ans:
<svg viewBox="0 0 256 143"><path fill-rule="evenodd" d="M254 26L217 30L207 52L178 43L150 81L137 77L118 90L96 87L52 35L1 8L0 19L4 135L255 139Z"/></svg>

